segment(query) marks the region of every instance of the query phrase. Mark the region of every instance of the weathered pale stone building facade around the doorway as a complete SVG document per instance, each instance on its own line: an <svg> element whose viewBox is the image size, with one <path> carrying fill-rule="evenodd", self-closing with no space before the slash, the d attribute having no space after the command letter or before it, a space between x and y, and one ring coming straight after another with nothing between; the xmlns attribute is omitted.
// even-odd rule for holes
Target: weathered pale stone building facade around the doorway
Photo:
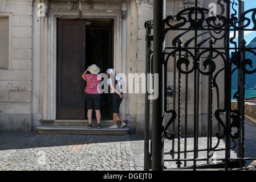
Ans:
<svg viewBox="0 0 256 182"><path fill-rule="evenodd" d="M208 7L206 2L203 5L201 1L201 6ZM166 14L177 14L191 5L192 1L167 0ZM101 66L101 73L107 67L125 75L145 73L144 23L152 19L153 0L0 0L0 130L34 131L41 120L74 119L63 116L62 113L67 113L63 109L67 105L61 99L75 101L77 98L72 93L66 96L69 91L60 88L65 87L65 78L70 72L78 71L80 75L89 63L94 64L91 59ZM91 46L86 44L86 49L93 47L93 43L102 46L100 43L104 41L108 47L92 49L95 53L91 57L78 57L85 62L79 63L76 71L68 72L64 66L59 66L64 62L58 59L61 56L75 57L72 55L73 42L65 36L76 34L68 29L70 24L82 26L77 30L81 34L77 40L84 39L86 43L92 40ZM108 30L104 35L108 40L103 39L105 30ZM86 36L82 35L84 32ZM92 35L95 39L91 39ZM85 42L75 46L82 49ZM86 49L83 51L89 55L90 51L86 52ZM99 52L103 54L101 58ZM108 56L107 64L103 64L104 52ZM168 77L173 76L172 71L172 67L168 68ZM141 80L139 82L143 85ZM172 85L171 81L169 85ZM144 94L127 93L126 96L120 107L121 114L129 121L133 132L143 133ZM72 103L70 107L76 110L74 105Z"/></svg>

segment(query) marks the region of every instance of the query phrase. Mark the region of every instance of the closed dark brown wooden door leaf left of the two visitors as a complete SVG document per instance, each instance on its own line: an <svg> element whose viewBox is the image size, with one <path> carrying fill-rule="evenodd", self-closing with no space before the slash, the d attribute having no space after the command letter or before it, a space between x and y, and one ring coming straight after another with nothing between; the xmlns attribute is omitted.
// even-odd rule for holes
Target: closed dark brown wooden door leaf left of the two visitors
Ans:
<svg viewBox="0 0 256 182"><path fill-rule="evenodd" d="M58 19L57 119L84 119L86 21Z"/></svg>

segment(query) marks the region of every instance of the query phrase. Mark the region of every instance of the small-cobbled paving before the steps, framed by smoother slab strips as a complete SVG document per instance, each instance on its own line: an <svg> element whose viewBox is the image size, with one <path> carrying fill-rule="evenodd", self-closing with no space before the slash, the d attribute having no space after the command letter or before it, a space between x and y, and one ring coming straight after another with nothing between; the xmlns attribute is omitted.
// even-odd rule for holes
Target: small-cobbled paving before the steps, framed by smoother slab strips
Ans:
<svg viewBox="0 0 256 182"><path fill-rule="evenodd" d="M0 170L130 171L135 165L127 135L38 135L1 159Z"/></svg>

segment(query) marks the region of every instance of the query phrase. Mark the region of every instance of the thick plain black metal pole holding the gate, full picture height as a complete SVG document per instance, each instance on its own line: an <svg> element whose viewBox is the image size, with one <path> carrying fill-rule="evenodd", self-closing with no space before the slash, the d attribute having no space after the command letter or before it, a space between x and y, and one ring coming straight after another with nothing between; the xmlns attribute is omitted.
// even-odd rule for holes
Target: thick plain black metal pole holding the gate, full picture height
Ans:
<svg viewBox="0 0 256 182"><path fill-rule="evenodd" d="M152 170L164 169L164 49L165 0L154 1L153 73L159 74L159 97L153 100L152 117Z"/></svg>

